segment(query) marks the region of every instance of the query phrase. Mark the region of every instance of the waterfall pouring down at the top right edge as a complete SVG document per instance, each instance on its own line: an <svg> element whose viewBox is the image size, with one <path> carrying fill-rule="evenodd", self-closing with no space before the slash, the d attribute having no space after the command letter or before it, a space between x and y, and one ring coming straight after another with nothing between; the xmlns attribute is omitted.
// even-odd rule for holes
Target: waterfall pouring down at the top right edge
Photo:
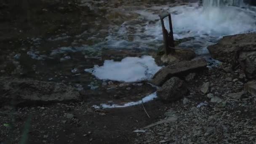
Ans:
<svg viewBox="0 0 256 144"><path fill-rule="evenodd" d="M243 0L203 0L203 7L238 6L243 7Z"/></svg>

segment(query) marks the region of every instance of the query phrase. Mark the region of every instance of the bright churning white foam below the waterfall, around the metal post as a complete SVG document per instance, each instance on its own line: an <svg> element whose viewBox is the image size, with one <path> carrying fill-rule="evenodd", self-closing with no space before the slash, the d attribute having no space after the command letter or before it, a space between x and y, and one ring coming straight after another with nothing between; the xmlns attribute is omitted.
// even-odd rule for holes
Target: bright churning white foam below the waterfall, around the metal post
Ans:
<svg viewBox="0 0 256 144"><path fill-rule="evenodd" d="M234 6L203 8L197 3L169 8L172 16L174 38L182 39L194 37L195 39L181 46L198 48L198 54L208 53L206 47L225 35L235 35L256 32L256 13L248 8ZM168 29L168 20L165 19ZM155 27L146 26L145 33L152 35L155 40L163 40L160 21Z"/></svg>

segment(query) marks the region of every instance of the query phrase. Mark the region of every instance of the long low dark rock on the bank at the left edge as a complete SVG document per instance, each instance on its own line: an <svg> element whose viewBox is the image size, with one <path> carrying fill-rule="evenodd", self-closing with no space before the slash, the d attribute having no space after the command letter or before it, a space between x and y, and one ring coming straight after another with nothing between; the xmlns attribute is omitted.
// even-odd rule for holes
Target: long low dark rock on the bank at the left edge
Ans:
<svg viewBox="0 0 256 144"><path fill-rule="evenodd" d="M80 93L64 83L0 77L0 104L29 105L79 101Z"/></svg>

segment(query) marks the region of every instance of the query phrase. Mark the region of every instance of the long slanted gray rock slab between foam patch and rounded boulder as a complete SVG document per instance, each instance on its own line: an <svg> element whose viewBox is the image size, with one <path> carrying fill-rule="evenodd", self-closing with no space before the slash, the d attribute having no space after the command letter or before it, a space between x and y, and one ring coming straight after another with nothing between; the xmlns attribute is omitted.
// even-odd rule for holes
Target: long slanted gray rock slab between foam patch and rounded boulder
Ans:
<svg viewBox="0 0 256 144"><path fill-rule="evenodd" d="M182 61L176 64L168 65L160 69L152 78L151 83L154 85L163 85L165 81L174 76L185 76L190 72L196 72L206 68L205 59L197 59L192 61Z"/></svg>

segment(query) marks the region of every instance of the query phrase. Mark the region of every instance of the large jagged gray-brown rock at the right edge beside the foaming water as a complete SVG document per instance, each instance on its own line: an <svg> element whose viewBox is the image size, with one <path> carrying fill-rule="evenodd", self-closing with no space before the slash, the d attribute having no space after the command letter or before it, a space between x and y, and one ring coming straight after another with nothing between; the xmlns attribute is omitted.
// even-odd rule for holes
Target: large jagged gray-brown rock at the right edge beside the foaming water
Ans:
<svg viewBox="0 0 256 144"><path fill-rule="evenodd" d="M256 33L223 37L216 45L208 46L214 59L243 67L249 79L256 77Z"/></svg>

